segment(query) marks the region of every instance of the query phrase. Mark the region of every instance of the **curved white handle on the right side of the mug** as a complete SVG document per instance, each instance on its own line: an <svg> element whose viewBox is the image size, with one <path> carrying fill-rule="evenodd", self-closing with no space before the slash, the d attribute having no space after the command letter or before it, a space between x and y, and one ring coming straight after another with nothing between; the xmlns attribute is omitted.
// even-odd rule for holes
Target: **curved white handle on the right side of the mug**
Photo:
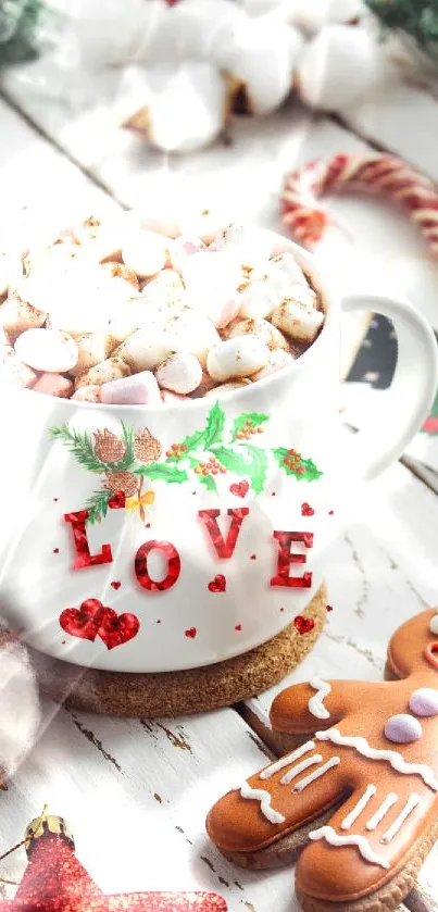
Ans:
<svg viewBox="0 0 438 912"><path fill-rule="evenodd" d="M370 479L399 459L429 413L438 386L437 340L425 317L408 301L368 293L346 297L342 313L356 311L388 317L398 343L392 383L371 424L351 441L354 474Z"/></svg>

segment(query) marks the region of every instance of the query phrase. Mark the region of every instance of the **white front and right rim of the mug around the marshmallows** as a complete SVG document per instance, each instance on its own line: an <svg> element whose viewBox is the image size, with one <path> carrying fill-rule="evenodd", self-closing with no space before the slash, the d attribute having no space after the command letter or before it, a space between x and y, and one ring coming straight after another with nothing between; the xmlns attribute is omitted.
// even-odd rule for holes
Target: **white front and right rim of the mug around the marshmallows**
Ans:
<svg viewBox="0 0 438 912"><path fill-rule="evenodd" d="M312 360L312 358L314 360L317 357L317 353L321 349L321 346L323 345L325 338L327 337L327 334L330 330L331 324L335 320L335 310L336 310L335 302L337 300L337 297L336 297L336 295L335 295L335 292L334 292L334 290L330 286L330 283L326 282L323 278L321 270L316 264L314 255L310 251L305 250L305 248L301 247L299 243L296 243L295 241L290 240L289 238L285 237L284 235L280 235L277 232L272 232L271 229L266 229L266 228L264 230L268 230L268 233L276 240L276 248L278 248L278 249L276 249L276 252L274 253L274 255L279 255L280 253L286 253L286 252L290 251L295 254L299 265L304 266L305 272L310 273L311 278L315 282L315 285L317 286L317 290L318 290L318 293L320 293L321 299L322 299L325 320L324 320L323 327L322 327L317 338L315 339L315 341L312 342L312 345L309 346L306 351L304 351L302 354L300 354L299 358L295 359L291 364L288 364L286 367L283 367L280 371L275 371L273 374L270 374L267 377L263 377L263 379L261 379L261 380L256 380L256 384L249 384L248 386L247 385L242 386L239 389L227 390L227 392L224 392L224 393L221 395L221 401L224 400L225 402L229 402L236 396L236 393L238 393L239 396L245 396L245 397L248 396L249 392L252 391L255 386L256 386L258 389L261 388L261 387L263 387L264 390L267 389L270 385L272 385L275 382L278 382L278 379L280 377L286 379L288 376L291 375L292 372L296 374L300 370L300 364L303 364L304 362L305 362L304 366L308 366L308 364ZM280 247L284 248L284 249L280 250L279 249ZM313 353L313 352L315 352L315 353ZM0 389L4 389L4 388L7 390L10 389L11 384L9 384L7 380L3 380L3 382L0 380ZM35 392L34 389L27 389L25 387L20 387L20 386L14 387L14 391L15 391L15 393L23 393L26 397L32 396ZM43 395L45 393L40 393L40 396L43 396ZM98 409L104 408L105 410L113 411L115 414L117 414L117 412L120 412L121 410L126 411L127 409L133 410L137 414L142 414L143 412L147 412L148 414L152 414L153 412L162 414L163 411L168 412L171 410L176 410L176 411L179 412L183 408L180 404L178 404L176 402L175 403L173 403L173 402L167 402L167 403L162 402L161 405L157 407L157 405L149 405L147 403L129 404L128 402L124 402L124 403L117 403L117 404L107 404L107 403L103 403L103 402L82 402L82 401L78 401L78 400L62 399L61 397L46 397L46 398L54 399L57 401L58 405L63 404L67 409L86 409L87 411L97 411ZM202 405L202 403L204 402L205 399L208 399L208 400L209 399L214 399L214 391L212 391L212 393L209 395L209 396L202 396L202 397L199 397L198 399L191 399L190 401L185 402L183 411L187 412L188 410L196 410L196 409L201 408L201 405Z"/></svg>

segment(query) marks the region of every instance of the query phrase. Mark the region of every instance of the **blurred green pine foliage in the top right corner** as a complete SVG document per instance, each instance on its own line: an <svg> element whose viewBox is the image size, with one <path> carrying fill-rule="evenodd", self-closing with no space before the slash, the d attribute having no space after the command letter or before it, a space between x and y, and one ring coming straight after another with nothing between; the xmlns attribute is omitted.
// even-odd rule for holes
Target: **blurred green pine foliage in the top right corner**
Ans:
<svg viewBox="0 0 438 912"><path fill-rule="evenodd" d="M438 60L438 0L366 0L385 28L409 35Z"/></svg>

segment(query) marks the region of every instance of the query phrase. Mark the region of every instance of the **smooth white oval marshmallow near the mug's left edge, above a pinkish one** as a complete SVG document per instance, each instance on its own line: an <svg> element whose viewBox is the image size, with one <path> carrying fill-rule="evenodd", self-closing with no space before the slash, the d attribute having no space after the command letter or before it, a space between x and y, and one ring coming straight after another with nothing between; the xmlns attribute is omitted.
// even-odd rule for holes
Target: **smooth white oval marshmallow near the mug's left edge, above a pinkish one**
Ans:
<svg viewBox="0 0 438 912"><path fill-rule="evenodd" d="M77 362L77 345L60 329L26 329L15 342L15 353L34 371L68 373Z"/></svg>

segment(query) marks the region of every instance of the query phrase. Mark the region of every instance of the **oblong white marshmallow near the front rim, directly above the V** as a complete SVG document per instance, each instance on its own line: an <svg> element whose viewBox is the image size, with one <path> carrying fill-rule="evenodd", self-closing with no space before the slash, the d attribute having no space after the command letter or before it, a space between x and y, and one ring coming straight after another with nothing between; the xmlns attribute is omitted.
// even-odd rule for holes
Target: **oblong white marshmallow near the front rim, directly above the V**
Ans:
<svg viewBox="0 0 438 912"><path fill-rule="evenodd" d="M250 377L267 363L270 350L256 336L237 336L210 349L207 370L215 380Z"/></svg>

